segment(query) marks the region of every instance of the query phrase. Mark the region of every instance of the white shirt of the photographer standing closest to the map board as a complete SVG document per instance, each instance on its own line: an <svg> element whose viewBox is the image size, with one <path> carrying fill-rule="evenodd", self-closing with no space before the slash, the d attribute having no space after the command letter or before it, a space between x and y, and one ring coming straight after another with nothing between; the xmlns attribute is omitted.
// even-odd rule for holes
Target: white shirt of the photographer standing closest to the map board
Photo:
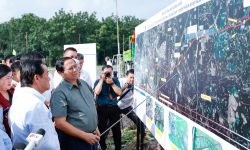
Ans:
<svg viewBox="0 0 250 150"><path fill-rule="evenodd" d="M127 78L121 78L119 79L119 82L120 82L120 85L121 85L121 88L124 87L125 83L127 82ZM128 89L125 89L123 92L122 92L122 95L127 91ZM131 105L131 102L133 100L133 92L130 90L119 102L118 102L118 107L120 109L125 109L127 107L129 107ZM118 97L117 99L119 99L120 97Z"/></svg>

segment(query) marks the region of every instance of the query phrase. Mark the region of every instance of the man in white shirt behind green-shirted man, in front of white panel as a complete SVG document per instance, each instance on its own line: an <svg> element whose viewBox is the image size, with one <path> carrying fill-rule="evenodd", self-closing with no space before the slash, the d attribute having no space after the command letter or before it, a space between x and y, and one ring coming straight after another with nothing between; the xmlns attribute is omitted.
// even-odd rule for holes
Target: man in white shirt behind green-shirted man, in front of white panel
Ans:
<svg viewBox="0 0 250 150"><path fill-rule="evenodd" d="M91 78L89 76L89 73L85 70L82 69L83 63L84 63L84 56L83 54L77 53L77 59L80 61L80 68L81 68L81 74L80 74L80 79L83 79L88 83L89 86L93 87Z"/></svg>

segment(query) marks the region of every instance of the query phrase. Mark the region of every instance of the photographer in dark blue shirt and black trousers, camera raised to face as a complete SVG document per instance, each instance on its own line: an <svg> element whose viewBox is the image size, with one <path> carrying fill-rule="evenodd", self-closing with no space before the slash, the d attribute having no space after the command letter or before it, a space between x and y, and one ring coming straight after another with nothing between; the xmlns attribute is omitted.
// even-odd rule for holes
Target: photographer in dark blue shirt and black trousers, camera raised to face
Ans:
<svg viewBox="0 0 250 150"><path fill-rule="evenodd" d="M117 106L117 96L122 94L120 82L118 79L112 79L113 68L109 65L102 67L100 79L95 81L94 91L97 95L97 114L98 114L98 128L100 133L103 133L107 128L107 121L114 124L120 119L120 109ZM107 75L109 73L110 75ZM106 74L106 75L105 75ZM115 150L121 149L121 129L120 122L113 128L113 138L115 143ZM101 136L100 145L102 150L106 150L105 136Z"/></svg>

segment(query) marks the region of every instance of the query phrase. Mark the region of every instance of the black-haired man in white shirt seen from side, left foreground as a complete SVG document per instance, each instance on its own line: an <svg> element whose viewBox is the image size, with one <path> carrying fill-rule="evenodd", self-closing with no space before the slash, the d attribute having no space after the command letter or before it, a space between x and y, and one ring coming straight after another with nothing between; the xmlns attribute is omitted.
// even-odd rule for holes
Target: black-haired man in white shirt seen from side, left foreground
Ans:
<svg viewBox="0 0 250 150"><path fill-rule="evenodd" d="M17 99L9 110L9 125L13 145L22 142L40 128L46 131L37 150L59 150L58 135L52 122L52 115L44 105L42 93L49 90L48 68L42 60L29 60L22 64L21 87Z"/></svg>

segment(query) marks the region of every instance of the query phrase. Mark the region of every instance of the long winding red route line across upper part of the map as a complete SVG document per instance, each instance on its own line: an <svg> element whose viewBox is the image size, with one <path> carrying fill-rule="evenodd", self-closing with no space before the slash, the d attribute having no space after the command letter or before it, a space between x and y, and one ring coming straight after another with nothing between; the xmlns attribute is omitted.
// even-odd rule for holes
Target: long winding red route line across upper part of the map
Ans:
<svg viewBox="0 0 250 150"><path fill-rule="evenodd" d="M250 20L250 18L246 19L245 22L247 22L247 21L249 21L249 20ZM212 33L208 33L208 34L206 34L206 35L203 35L203 36L201 36L201 37L197 37L197 38L193 39L193 41L190 43L188 49L186 50L186 52L184 53L184 55L182 56L181 60L178 62L177 65L171 67L169 70L166 70L165 68L163 68L163 67L162 67L161 65L159 65L159 64L152 64L151 67L150 67L149 70L148 70L148 73L149 73L149 71L151 70L151 68L152 68L152 67L155 67L155 66L158 66L158 67L162 68L162 69L165 70L166 72L171 72L173 69L175 69L176 67L178 67L178 66L180 65L180 63L182 62L183 58L184 58L185 55L187 54L189 48L191 47L191 45L193 44L194 41L196 41L196 40L198 40L198 39L200 39L200 38L203 38L203 37L205 37L205 36L211 35L211 34L223 32L223 31L225 31L225 30L227 30L227 29L230 29L230 28L239 27L239 26L241 26L242 24L243 24L243 22L242 22L242 23L239 23L239 24L237 24L237 25L234 25L234 26L228 26L228 27L226 27L226 28L223 29L223 30L219 30L219 31L215 31L215 32L212 32Z"/></svg>

